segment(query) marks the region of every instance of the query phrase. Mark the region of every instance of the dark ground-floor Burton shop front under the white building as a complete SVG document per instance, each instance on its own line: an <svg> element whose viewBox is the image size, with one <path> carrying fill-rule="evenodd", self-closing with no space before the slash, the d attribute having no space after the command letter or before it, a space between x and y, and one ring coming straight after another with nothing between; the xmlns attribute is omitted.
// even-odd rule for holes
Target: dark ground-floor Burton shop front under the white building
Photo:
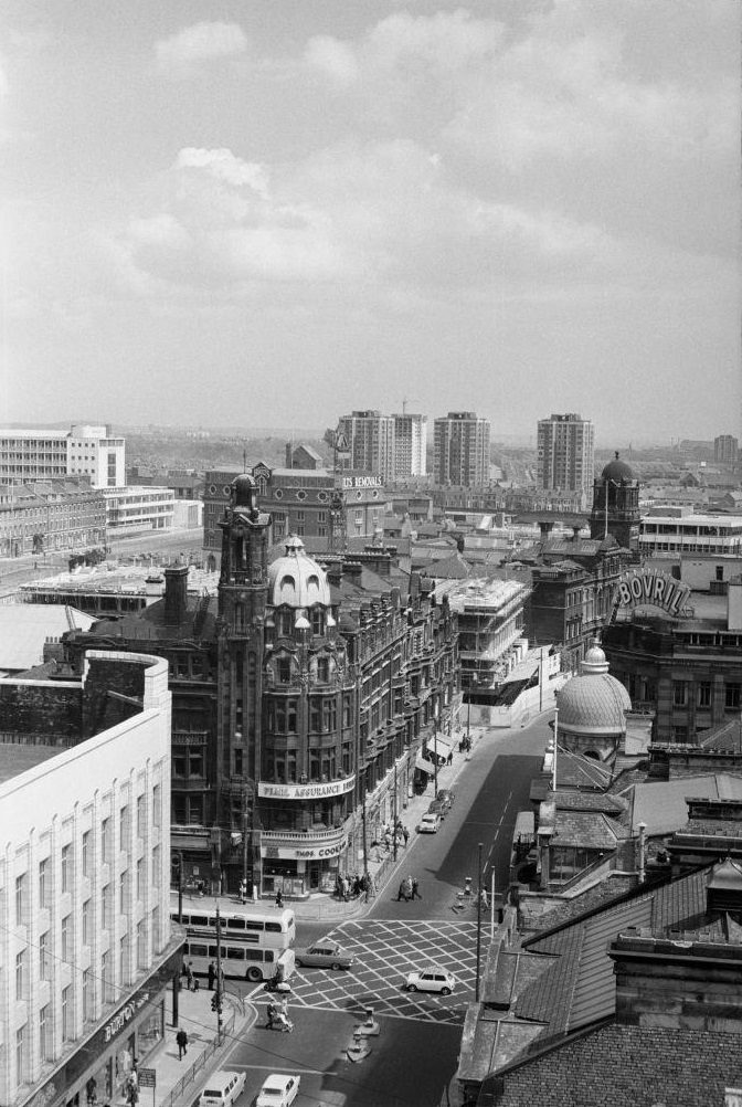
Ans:
<svg viewBox="0 0 742 1107"><path fill-rule="evenodd" d="M170 943L147 980L79 1043L22 1107L101 1107L123 1098L134 1064L148 1067L165 1035L168 985L182 964L182 944L179 938Z"/></svg>

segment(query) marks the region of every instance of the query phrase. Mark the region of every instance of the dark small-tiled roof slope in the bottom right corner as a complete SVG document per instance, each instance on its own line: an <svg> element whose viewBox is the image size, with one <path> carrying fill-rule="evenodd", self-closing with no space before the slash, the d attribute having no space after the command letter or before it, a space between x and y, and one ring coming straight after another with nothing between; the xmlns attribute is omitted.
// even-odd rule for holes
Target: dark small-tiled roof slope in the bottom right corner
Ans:
<svg viewBox="0 0 742 1107"><path fill-rule="evenodd" d="M742 1037L613 1023L499 1075L498 1107L724 1107L742 1087Z"/></svg>

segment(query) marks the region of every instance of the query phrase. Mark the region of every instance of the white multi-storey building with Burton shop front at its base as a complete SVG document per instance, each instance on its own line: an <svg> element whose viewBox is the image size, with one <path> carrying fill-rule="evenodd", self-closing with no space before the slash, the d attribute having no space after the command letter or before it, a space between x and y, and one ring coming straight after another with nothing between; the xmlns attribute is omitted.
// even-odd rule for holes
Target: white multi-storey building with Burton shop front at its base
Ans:
<svg viewBox="0 0 742 1107"><path fill-rule="evenodd" d="M52 743L43 745L41 743ZM167 663L91 651L0 681L0 1103L115 1103L165 1031Z"/></svg>

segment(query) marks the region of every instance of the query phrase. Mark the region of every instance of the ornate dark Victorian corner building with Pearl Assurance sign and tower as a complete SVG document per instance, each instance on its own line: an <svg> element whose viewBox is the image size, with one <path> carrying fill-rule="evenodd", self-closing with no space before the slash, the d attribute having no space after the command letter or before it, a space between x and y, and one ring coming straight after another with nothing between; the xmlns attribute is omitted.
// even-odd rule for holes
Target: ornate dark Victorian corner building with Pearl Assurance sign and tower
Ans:
<svg viewBox="0 0 742 1107"><path fill-rule="evenodd" d="M166 571L146 610L67 637L81 651L140 649L170 662L173 848L186 881L307 896L366 868L401 815L418 751L450 718L457 623L399 572L395 551L309 557L271 518L255 479L230 486L218 598Z"/></svg>

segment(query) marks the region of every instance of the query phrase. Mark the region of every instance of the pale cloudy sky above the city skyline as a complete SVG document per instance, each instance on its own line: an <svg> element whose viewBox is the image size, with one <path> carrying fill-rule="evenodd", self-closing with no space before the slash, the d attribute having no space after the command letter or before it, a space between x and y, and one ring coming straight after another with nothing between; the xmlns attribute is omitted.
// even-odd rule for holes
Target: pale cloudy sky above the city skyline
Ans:
<svg viewBox="0 0 742 1107"><path fill-rule="evenodd" d="M2 0L0 422L742 434L736 0Z"/></svg>

